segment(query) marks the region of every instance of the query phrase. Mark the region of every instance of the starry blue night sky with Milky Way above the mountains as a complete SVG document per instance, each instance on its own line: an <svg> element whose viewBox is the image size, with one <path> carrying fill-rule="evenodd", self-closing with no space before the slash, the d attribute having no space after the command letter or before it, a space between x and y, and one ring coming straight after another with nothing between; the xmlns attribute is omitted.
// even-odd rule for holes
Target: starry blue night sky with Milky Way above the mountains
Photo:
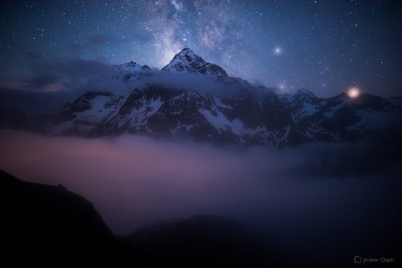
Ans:
<svg viewBox="0 0 402 268"><path fill-rule="evenodd" d="M398 1L2 1L0 87L26 85L43 61L162 68L190 48L283 93L400 97L401 11Z"/></svg>

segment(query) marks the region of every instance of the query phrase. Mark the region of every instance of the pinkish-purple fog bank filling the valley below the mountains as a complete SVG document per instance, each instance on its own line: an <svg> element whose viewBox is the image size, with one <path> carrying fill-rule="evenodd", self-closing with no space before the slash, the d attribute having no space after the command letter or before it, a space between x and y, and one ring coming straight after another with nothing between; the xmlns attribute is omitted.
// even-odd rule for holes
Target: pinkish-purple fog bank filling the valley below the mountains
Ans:
<svg viewBox="0 0 402 268"><path fill-rule="evenodd" d="M364 142L218 149L1 130L0 169L85 197L115 234L197 214L235 217L267 234L291 266L400 253L402 168L385 149Z"/></svg>

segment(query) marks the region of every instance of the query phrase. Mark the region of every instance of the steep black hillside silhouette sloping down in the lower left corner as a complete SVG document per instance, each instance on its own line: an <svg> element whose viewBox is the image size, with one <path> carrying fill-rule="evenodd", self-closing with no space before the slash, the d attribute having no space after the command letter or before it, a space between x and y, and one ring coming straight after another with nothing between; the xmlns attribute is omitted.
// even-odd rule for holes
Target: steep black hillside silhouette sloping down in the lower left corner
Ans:
<svg viewBox="0 0 402 268"><path fill-rule="evenodd" d="M83 197L0 171L2 261L28 266L129 266L127 248ZM124 264L124 265L123 265Z"/></svg>

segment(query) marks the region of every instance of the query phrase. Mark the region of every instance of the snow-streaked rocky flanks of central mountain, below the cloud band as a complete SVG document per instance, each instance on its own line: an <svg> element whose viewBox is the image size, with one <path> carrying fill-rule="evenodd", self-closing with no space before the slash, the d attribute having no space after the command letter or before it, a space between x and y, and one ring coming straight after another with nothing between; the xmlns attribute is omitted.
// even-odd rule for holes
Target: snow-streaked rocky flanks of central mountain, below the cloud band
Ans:
<svg viewBox="0 0 402 268"><path fill-rule="evenodd" d="M289 110L274 94L265 99L224 97L147 83L128 96L85 92L55 114L49 131L83 137L131 133L213 144L276 145L291 123Z"/></svg>

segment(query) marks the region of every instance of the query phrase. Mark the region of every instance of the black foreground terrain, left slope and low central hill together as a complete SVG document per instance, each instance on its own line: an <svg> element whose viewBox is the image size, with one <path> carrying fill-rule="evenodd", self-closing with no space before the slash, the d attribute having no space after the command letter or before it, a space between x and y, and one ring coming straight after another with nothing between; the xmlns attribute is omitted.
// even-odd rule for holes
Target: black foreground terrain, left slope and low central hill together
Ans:
<svg viewBox="0 0 402 268"><path fill-rule="evenodd" d="M273 250L234 219L195 216L115 237L93 205L62 186L0 171L2 261L41 267L246 267Z"/></svg>

